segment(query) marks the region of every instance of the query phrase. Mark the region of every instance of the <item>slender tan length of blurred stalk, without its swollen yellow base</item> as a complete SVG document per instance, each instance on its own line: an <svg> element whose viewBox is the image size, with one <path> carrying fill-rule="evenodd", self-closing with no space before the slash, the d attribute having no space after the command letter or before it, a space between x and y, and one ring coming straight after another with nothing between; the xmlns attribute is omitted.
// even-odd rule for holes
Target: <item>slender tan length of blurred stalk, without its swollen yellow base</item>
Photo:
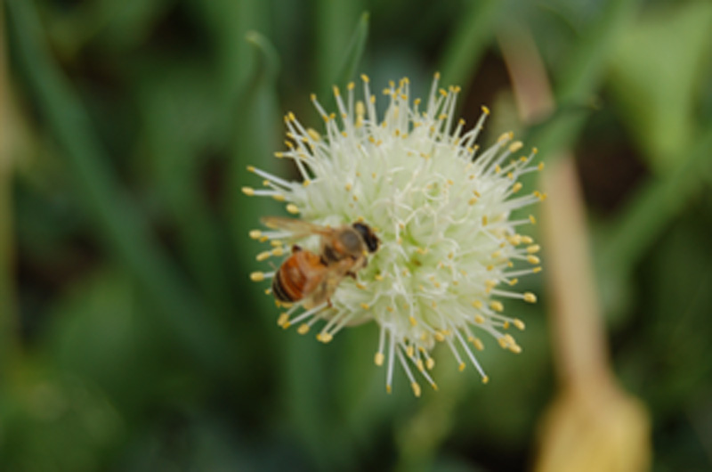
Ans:
<svg viewBox="0 0 712 472"><path fill-rule="evenodd" d="M500 37L522 118L551 113L554 98L532 38L522 30ZM547 158L542 187L546 276L551 290L554 361L565 387L587 390L610 382L601 309L587 238L583 198L569 153Z"/></svg>

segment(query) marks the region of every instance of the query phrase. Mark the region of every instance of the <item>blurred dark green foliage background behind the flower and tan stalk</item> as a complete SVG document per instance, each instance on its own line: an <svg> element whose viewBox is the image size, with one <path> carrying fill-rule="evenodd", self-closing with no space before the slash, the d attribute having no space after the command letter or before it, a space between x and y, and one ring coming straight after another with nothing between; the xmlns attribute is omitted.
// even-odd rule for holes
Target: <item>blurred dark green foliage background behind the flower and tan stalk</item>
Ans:
<svg viewBox="0 0 712 472"><path fill-rule="evenodd" d="M368 14L366 14L368 12ZM712 3L4 0L0 470L527 470L554 377L542 277L524 352L386 395L374 324L276 325L247 238L290 175L282 115L358 73L433 72L583 185L613 368L653 470L712 469ZM534 37L558 109L524 128L498 40ZM356 75L354 75L356 74ZM546 191L546 189L543 189ZM544 266L546 270L546 241ZM400 376L400 377L398 377Z"/></svg>

